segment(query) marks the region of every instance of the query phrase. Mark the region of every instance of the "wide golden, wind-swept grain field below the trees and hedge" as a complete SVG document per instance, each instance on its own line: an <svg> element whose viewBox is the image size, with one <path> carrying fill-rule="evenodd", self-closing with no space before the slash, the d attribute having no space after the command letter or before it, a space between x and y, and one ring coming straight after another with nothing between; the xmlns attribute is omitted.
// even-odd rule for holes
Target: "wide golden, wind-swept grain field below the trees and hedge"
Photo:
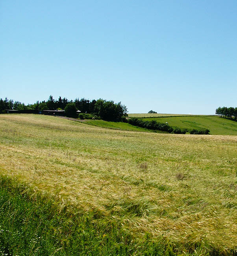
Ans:
<svg viewBox="0 0 237 256"><path fill-rule="evenodd" d="M67 221L89 216L95 234L108 234L111 255L116 254L113 237L126 245L126 255L234 255L236 143L237 136L230 135L144 133L50 116L0 115L0 174L17 180L6 186L7 191L27 184L22 195L29 191L39 205L38 195L53 198L59 219L64 214ZM28 198L24 199L31 203ZM25 221L30 219L25 217L30 208L20 213ZM6 212L9 225L1 219L1 229L14 231L12 220L17 215ZM112 223L119 228L111 231ZM37 218L35 225L40 226ZM80 236L76 239L81 242ZM91 246L87 239L97 238L87 236L85 250Z"/></svg>

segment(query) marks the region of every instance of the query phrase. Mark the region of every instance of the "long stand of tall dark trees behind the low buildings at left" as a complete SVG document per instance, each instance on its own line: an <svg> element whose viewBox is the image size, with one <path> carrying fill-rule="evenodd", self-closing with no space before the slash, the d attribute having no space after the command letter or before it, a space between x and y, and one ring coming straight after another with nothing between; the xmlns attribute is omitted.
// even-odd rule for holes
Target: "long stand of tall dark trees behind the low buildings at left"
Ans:
<svg viewBox="0 0 237 256"><path fill-rule="evenodd" d="M68 100L67 98L62 98L59 96L57 100L53 98L52 95L49 96L48 100L37 101L34 104L25 105L19 101L4 100L0 99L0 113L5 113L6 109L14 110L62 110L62 109L71 109L75 112L80 110L81 113L88 113L97 115L98 117L108 120L108 121L121 121L122 117L128 116L128 109L125 105L122 105L121 102L115 103L113 100L87 100L85 98L76 98L73 100ZM70 112L70 111L69 111ZM72 113L71 112L71 113ZM74 112L71 115L74 115Z"/></svg>

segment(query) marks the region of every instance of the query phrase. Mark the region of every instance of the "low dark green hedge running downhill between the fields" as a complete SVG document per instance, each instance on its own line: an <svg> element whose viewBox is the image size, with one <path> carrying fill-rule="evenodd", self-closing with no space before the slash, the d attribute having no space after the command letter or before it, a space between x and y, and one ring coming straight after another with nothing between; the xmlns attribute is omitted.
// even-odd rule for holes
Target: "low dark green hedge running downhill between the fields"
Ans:
<svg viewBox="0 0 237 256"><path fill-rule="evenodd" d="M190 134L209 134L209 129L186 129L186 128L179 128L179 127L172 127L167 123L157 122L155 120L152 121L143 121L138 119L137 117L131 117L128 119L128 123L131 125L139 126L142 128L146 128L149 130L158 130L163 132L168 132L172 134L186 134L189 132Z"/></svg>

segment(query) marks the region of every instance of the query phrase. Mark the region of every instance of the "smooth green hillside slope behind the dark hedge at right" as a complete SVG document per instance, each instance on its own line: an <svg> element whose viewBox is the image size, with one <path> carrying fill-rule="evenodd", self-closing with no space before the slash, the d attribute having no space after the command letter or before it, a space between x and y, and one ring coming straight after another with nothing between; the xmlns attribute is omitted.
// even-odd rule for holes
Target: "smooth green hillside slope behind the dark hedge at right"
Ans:
<svg viewBox="0 0 237 256"><path fill-rule="evenodd" d="M168 122L170 126L177 126L180 128L207 128L211 131L210 134L237 135L237 122L217 116L161 117L146 118L143 120Z"/></svg>

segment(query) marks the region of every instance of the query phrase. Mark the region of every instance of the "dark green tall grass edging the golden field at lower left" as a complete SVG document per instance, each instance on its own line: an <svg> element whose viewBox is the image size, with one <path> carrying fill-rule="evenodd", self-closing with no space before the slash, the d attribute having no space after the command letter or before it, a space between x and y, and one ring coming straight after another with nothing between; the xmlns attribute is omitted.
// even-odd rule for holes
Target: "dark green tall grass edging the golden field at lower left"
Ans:
<svg viewBox="0 0 237 256"><path fill-rule="evenodd" d="M155 256L171 249L164 239L136 241L115 221L95 222L70 204L59 211L58 198L17 182L0 176L0 255Z"/></svg>

